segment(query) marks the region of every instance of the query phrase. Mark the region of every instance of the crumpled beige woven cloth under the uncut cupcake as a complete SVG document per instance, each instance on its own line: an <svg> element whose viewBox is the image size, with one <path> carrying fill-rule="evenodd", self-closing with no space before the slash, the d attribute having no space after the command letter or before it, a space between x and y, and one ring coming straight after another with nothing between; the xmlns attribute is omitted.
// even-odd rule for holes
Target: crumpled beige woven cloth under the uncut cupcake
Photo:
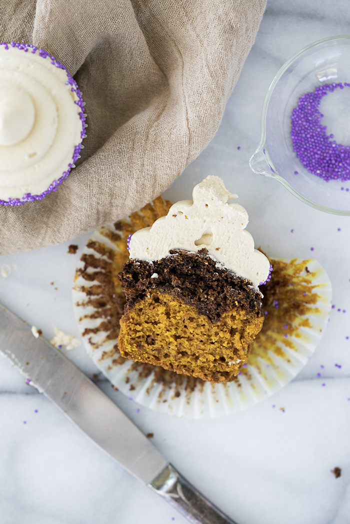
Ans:
<svg viewBox="0 0 350 524"><path fill-rule="evenodd" d="M0 41L33 43L65 64L89 125L57 192L0 206L0 254L66 241L164 191L213 138L265 4L0 0Z"/></svg>

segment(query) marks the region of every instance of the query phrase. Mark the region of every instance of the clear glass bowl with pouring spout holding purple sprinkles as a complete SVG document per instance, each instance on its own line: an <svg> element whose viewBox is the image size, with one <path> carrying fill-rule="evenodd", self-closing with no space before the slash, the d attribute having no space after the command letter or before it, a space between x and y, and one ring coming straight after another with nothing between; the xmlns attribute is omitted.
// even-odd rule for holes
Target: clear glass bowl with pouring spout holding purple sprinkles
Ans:
<svg viewBox="0 0 350 524"><path fill-rule="evenodd" d="M278 180L313 208L350 215L350 181L326 182L307 171L293 151L290 136L291 114L299 97L322 84L334 82L350 83L350 35L314 42L296 53L279 70L262 107L261 141L249 164L254 172ZM334 95L335 92L330 96ZM339 107L334 107L334 104L332 107L333 115L328 116L328 121L333 119L336 122L336 115L342 112L341 103ZM327 126L327 134L330 133L332 129Z"/></svg>

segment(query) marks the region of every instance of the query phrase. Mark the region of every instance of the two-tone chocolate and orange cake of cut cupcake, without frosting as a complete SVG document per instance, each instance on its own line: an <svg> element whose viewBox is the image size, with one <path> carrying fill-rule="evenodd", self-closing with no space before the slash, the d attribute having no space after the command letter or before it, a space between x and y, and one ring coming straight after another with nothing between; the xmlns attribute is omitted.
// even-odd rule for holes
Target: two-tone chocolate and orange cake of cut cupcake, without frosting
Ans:
<svg viewBox="0 0 350 524"><path fill-rule="evenodd" d="M238 374L262 327L261 295L206 253L124 264L122 356L212 382Z"/></svg>

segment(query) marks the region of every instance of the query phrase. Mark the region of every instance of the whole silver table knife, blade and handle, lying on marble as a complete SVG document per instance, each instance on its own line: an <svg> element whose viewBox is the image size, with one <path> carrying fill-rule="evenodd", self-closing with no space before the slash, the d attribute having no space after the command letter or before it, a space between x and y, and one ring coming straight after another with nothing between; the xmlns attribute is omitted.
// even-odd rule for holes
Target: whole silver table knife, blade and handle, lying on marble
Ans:
<svg viewBox="0 0 350 524"><path fill-rule="evenodd" d="M86 375L0 305L0 354L104 452L192 524L237 524L193 487Z"/></svg>

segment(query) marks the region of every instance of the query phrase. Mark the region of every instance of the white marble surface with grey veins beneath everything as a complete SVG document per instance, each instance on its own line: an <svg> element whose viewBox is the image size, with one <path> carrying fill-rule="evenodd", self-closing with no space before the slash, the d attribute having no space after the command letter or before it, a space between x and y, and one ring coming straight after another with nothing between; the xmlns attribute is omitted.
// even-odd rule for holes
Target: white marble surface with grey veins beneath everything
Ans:
<svg viewBox="0 0 350 524"><path fill-rule="evenodd" d="M257 245L274 256L305 258L314 247L313 256L331 278L336 307L310 362L271 399L215 422L142 407L136 412L137 405L99 375L99 386L142 431L153 432L164 455L239 524L350 522L350 222L307 207L248 166L274 74L312 41L346 34L349 21L346 0L268 0L215 138L166 193L173 200L188 198L194 183L219 174L247 208ZM73 243L81 250L87 238ZM78 336L70 292L79 252L67 254L70 243L0 259L12 268L7 278L0 276L1 301L48 339L53 325ZM82 346L69 357L88 375L96 372ZM25 385L4 359L0 399L1 524L185 523ZM340 478L331 473L335 466L342 468Z"/></svg>

